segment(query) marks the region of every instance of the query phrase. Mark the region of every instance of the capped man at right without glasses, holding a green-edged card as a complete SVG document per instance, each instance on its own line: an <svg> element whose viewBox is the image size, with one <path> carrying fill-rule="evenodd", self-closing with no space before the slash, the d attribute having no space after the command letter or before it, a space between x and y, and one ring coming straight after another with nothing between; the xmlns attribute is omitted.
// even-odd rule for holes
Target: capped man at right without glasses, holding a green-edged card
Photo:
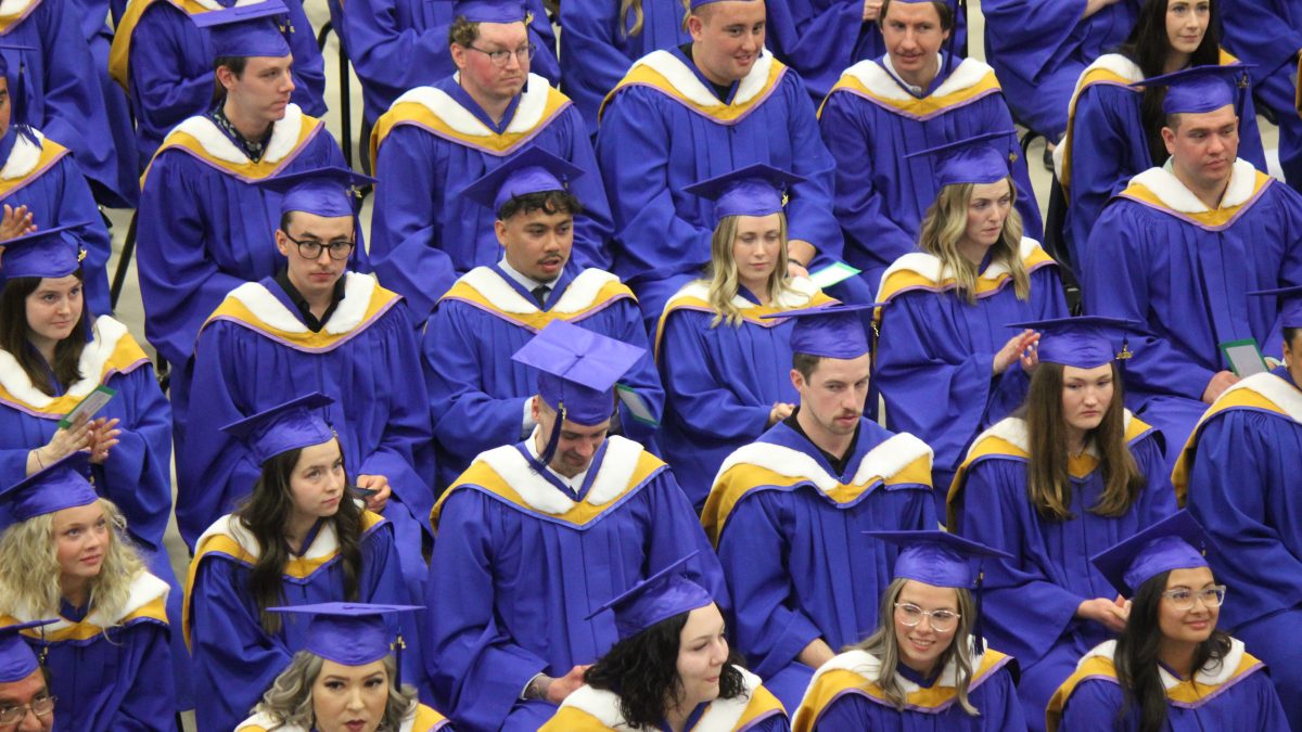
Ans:
<svg viewBox="0 0 1302 732"><path fill-rule="evenodd" d="M1302 197L1237 156L1226 66L1144 79L1167 86L1170 160L1104 208L1081 263L1085 310L1143 323L1129 404L1167 438L1173 465L1194 423L1238 378L1223 346L1279 357L1279 307L1260 289L1302 284Z"/></svg>

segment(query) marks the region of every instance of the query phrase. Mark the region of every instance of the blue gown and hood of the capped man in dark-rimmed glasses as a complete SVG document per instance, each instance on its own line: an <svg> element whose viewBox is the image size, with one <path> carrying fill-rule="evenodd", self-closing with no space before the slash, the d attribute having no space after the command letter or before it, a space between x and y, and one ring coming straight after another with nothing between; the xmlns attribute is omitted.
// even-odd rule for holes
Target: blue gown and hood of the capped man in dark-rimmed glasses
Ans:
<svg viewBox="0 0 1302 732"><path fill-rule="evenodd" d="M404 577L424 581L424 517L434 507L434 449L415 330L401 298L375 277L349 272L345 297L319 333L268 277L227 297L199 333L193 409L177 461L177 528L194 539L249 495L260 474L247 448L223 425L298 393L335 399L328 421L349 475L384 475ZM419 593L413 589L413 594Z"/></svg>

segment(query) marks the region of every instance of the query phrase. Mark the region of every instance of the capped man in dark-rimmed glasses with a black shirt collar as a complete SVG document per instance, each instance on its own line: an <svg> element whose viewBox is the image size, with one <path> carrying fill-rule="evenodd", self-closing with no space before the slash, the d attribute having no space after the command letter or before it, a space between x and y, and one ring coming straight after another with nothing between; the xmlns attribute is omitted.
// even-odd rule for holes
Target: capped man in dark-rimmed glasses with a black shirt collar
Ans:
<svg viewBox="0 0 1302 732"><path fill-rule="evenodd" d="M223 425L290 393L333 400L328 421L367 492L367 509L393 528L404 577L419 598L424 517L434 508L434 451L421 354L402 298L348 271L357 247L349 186L374 181L345 169L263 181L281 193L272 277L230 290L195 344L186 445L177 461L177 526L186 543L243 499L259 473L255 451ZM270 244L270 242L268 242Z"/></svg>

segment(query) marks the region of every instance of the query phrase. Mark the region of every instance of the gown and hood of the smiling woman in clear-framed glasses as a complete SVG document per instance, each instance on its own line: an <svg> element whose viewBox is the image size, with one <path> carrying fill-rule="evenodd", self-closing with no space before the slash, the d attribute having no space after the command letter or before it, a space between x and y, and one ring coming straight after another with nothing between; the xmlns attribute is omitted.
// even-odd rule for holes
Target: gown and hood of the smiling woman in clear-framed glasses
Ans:
<svg viewBox="0 0 1302 732"><path fill-rule="evenodd" d="M970 641L969 641L970 642ZM896 709L876 685L881 662L862 650L842 653L818 669L796 712L797 732L1018 732L1026 729L1013 681L1017 662L987 650L974 659L967 701L979 716L958 705L953 660L930 684L906 667L896 671L906 692L906 706Z"/></svg>

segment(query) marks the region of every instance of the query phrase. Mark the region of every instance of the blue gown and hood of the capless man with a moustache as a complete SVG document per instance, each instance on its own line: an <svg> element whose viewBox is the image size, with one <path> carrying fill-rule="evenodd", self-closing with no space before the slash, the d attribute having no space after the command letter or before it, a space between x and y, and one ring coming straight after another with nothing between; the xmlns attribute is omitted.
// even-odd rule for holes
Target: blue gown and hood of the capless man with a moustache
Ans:
<svg viewBox="0 0 1302 732"><path fill-rule="evenodd" d="M862 3L861 3L862 5ZM876 289L892 262L918 250L927 208L940 194L935 159L911 152L1013 129L995 72L975 59L944 61L923 96L888 69L889 57L861 61L841 76L819 111L819 128L836 167L836 218L845 260ZM1017 141L1008 138L1017 211L1026 236L1043 236L1040 208Z"/></svg>

